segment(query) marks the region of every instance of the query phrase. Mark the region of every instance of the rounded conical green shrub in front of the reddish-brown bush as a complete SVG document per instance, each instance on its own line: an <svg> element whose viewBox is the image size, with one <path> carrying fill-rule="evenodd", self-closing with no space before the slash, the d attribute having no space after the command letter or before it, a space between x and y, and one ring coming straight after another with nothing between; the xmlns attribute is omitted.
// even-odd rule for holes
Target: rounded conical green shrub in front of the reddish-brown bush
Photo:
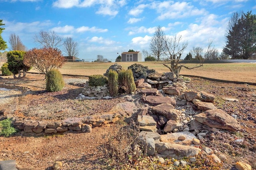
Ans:
<svg viewBox="0 0 256 170"><path fill-rule="evenodd" d="M46 73L46 90L48 92L58 92L64 87L62 74L58 69L52 69Z"/></svg>

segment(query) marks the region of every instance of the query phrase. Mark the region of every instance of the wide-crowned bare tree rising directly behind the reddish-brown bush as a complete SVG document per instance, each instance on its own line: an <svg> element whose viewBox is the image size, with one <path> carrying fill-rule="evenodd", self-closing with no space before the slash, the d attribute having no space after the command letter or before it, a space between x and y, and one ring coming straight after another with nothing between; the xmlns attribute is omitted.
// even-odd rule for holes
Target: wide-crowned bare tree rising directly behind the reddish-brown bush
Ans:
<svg viewBox="0 0 256 170"><path fill-rule="evenodd" d="M34 41L39 43L42 47L58 48L62 46L63 38L58 36L54 31L40 31L38 35L34 36Z"/></svg>

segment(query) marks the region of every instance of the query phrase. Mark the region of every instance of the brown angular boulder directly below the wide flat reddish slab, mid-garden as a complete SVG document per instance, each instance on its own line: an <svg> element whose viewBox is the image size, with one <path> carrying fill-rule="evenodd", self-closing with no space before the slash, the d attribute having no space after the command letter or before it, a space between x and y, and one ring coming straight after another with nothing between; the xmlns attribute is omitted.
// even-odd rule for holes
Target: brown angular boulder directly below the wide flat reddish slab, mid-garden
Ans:
<svg viewBox="0 0 256 170"><path fill-rule="evenodd" d="M152 113L155 115L162 115L166 117L168 120L174 120L180 123L180 115L181 111L174 109L172 104L159 104L157 106L152 107Z"/></svg>

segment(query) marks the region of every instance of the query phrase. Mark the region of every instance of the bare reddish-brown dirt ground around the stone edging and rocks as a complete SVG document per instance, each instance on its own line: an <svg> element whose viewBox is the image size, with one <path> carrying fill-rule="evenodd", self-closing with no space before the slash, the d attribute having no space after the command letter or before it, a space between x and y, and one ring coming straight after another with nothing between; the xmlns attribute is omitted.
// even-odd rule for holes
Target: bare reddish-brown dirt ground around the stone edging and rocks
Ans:
<svg viewBox="0 0 256 170"><path fill-rule="evenodd" d="M238 75L239 76L239 75ZM64 76L64 79L74 77ZM84 77L77 77L82 78ZM242 78L242 76L241 76ZM66 84L61 92L48 93L44 90L44 76L28 74L26 78L0 78L0 87L18 88L20 93L9 95L6 104L0 105L0 110L18 110L30 119L64 119L66 117L82 116L82 114L102 114L123 102L123 98L112 100L74 100L82 92L82 88ZM246 80L244 80L246 82ZM14 86L15 85L15 86ZM203 145L221 151L227 156L223 169L234 169L234 164L240 159L248 160L252 168L256 169L256 86L248 84L222 83L192 78L188 88L203 90L216 96L214 103L228 114L238 115L242 131L226 133L226 136L216 134L216 140L206 138ZM0 95L6 93L0 91ZM222 100L222 97L238 99L239 102ZM0 96L0 99L4 98ZM60 107L62 106L62 107ZM82 110L80 108L82 107ZM45 115L46 111L50 115ZM82 112L83 111L83 112ZM64 114L68 112L68 114ZM1 112L0 112L1 113ZM104 144L107 135L115 135L122 123L112 124L110 127L97 127L92 133L64 133L59 135L37 136L36 134L17 133L12 137L0 137L0 160L16 160L19 169L30 170L51 169L55 161L63 163L64 170L94 170L106 169L108 157L104 154ZM245 140L243 145L233 143L234 139ZM230 143L233 149L223 147L223 143Z"/></svg>

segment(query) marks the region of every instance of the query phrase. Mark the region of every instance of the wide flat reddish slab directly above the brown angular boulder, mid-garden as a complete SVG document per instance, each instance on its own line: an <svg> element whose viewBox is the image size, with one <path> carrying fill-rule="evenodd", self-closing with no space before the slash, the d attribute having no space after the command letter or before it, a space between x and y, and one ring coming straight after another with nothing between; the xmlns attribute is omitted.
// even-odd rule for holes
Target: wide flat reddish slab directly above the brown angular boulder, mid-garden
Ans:
<svg viewBox="0 0 256 170"><path fill-rule="evenodd" d="M146 96L142 98L142 100L143 102L150 104L152 106L157 106L159 104L172 104L173 106L176 105L176 100L168 96Z"/></svg>

